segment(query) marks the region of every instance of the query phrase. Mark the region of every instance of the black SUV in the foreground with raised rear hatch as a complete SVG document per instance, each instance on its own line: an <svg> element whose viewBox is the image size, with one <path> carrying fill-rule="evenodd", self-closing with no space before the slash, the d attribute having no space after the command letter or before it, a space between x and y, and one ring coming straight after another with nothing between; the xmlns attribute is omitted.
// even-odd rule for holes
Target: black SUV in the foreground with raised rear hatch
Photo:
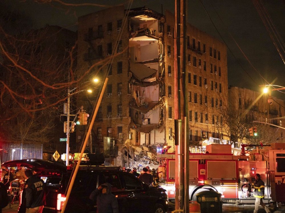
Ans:
<svg viewBox="0 0 285 213"><path fill-rule="evenodd" d="M39 159L13 160L3 165L24 166L37 172L46 183L43 212L60 212L72 170L67 170L64 164ZM112 185L120 213L165 213L168 210L168 196L164 189L148 186L133 174L119 171L119 167L80 165L65 212L95 213L96 203L89 200L89 195L106 182Z"/></svg>

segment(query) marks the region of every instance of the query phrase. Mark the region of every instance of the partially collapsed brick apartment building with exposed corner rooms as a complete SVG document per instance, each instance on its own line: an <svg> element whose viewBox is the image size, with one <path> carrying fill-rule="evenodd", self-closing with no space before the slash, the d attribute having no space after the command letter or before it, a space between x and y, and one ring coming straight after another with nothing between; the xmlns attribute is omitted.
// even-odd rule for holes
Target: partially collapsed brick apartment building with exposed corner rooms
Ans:
<svg viewBox="0 0 285 213"><path fill-rule="evenodd" d="M190 24L187 29L190 143L198 144L203 135L227 139L215 131L216 122L222 123L216 111L228 100L226 47ZM78 19L78 66L93 66L94 76L109 78L92 141L103 144L104 136L113 138L117 165L124 164L120 147L127 139L133 145L167 144L173 150L174 38L169 11L163 15L146 7L125 11L119 6Z"/></svg>

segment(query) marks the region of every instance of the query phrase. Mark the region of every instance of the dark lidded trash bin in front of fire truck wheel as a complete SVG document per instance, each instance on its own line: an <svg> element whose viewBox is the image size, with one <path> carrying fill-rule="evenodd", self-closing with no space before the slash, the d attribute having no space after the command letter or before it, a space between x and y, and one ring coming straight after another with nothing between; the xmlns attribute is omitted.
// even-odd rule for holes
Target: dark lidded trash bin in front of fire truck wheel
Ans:
<svg viewBox="0 0 285 213"><path fill-rule="evenodd" d="M222 213L221 194L216 191L201 191L197 197L197 202L200 204L201 213Z"/></svg>

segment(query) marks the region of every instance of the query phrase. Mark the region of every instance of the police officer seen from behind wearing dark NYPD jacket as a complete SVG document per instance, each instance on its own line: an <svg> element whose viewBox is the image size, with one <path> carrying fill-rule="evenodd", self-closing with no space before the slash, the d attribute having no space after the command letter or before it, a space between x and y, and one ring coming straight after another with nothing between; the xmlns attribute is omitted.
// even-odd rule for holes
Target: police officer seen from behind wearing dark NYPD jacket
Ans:
<svg viewBox="0 0 285 213"><path fill-rule="evenodd" d="M31 170L25 171L26 213L42 213L46 204L46 186L43 180L33 175Z"/></svg>

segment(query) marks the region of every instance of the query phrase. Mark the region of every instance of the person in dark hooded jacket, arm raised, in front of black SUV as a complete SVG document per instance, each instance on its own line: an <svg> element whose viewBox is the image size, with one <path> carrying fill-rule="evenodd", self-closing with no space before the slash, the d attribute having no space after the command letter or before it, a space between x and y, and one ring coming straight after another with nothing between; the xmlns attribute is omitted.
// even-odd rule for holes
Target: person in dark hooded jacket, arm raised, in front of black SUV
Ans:
<svg viewBox="0 0 285 213"><path fill-rule="evenodd" d="M91 201L97 201L97 213L119 213L118 201L111 194L111 187L110 183L104 183L89 196Z"/></svg>

